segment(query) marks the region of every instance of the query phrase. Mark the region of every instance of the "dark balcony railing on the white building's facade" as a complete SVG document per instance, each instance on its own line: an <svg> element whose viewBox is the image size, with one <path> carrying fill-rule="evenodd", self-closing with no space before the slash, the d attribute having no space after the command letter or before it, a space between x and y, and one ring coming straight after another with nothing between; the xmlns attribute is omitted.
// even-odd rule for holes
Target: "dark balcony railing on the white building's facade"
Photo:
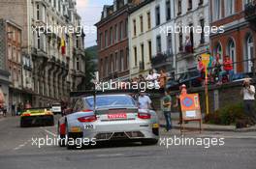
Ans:
<svg viewBox="0 0 256 169"><path fill-rule="evenodd" d="M171 51L166 51L163 53L158 53L151 59L151 66L152 68L161 67L164 65L168 65L173 63L174 61L174 54Z"/></svg>

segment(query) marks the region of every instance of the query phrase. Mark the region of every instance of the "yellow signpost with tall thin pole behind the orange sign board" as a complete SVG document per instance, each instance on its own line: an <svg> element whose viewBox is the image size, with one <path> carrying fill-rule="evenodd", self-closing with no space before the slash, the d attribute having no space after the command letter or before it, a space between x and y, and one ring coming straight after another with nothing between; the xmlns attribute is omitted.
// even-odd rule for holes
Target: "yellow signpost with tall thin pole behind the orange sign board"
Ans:
<svg viewBox="0 0 256 169"><path fill-rule="evenodd" d="M206 93L206 108L207 108L207 115L209 113L208 110L208 63L209 63L209 54L208 53L204 53L201 55L202 57L202 63L206 68L206 82L205 82L205 93Z"/></svg>

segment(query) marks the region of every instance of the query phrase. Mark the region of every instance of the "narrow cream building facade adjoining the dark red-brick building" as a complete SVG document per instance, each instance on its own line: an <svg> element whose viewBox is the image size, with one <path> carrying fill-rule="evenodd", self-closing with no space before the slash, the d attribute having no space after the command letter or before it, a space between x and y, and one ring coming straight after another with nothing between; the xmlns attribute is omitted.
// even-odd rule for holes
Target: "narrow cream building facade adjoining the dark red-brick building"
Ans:
<svg viewBox="0 0 256 169"><path fill-rule="evenodd" d="M131 78L144 76L151 69L152 58L152 0L144 1L130 11L129 66Z"/></svg>

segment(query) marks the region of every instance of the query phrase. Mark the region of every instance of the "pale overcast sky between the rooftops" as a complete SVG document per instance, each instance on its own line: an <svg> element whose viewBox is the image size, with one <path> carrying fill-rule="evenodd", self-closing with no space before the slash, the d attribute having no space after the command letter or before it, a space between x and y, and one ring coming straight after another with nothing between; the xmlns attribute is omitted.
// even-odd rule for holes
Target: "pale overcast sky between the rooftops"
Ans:
<svg viewBox="0 0 256 169"><path fill-rule="evenodd" d="M85 47L96 44L96 28L94 24L101 18L104 5L111 5L112 0L77 0L78 12L81 16L81 24L86 34Z"/></svg>

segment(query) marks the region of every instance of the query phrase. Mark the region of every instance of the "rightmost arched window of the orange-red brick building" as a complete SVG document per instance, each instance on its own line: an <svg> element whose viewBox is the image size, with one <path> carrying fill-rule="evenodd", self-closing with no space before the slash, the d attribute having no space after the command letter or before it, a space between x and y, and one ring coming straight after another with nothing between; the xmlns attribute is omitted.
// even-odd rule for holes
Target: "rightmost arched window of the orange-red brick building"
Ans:
<svg viewBox="0 0 256 169"><path fill-rule="evenodd" d="M249 34L248 36L246 36L245 41L244 41L244 71L245 72L251 72L252 71L252 66L253 66L253 62L251 61L251 59L253 58L253 51L254 51L254 47L253 47L253 38L251 36L251 34Z"/></svg>

